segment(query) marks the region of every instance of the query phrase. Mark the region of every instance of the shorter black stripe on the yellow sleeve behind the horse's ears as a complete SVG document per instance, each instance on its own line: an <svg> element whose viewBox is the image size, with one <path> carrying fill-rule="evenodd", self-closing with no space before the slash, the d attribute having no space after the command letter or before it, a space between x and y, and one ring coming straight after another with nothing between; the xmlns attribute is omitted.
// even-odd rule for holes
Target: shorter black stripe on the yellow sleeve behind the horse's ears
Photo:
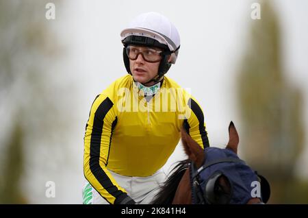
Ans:
<svg viewBox="0 0 308 218"><path fill-rule="evenodd" d="M192 109L192 112L196 115L198 122L199 122L199 132L202 138L203 147L209 147L209 139L207 138L207 132L205 131L204 126L204 116L201 108L196 104L196 101L194 99L189 99L188 102L190 102L189 106Z"/></svg>

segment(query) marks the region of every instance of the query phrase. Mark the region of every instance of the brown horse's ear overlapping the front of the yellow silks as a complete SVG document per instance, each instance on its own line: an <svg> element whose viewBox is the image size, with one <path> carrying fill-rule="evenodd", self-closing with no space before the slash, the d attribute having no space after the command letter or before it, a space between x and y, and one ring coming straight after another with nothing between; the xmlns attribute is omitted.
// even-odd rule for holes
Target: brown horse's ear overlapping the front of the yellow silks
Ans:
<svg viewBox="0 0 308 218"><path fill-rule="evenodd" d="M201 167L205 158L202 147L200 147L183 128L181 129L181 138L184 151L188 155L188 158L196 164L196 167Z"/></svg>

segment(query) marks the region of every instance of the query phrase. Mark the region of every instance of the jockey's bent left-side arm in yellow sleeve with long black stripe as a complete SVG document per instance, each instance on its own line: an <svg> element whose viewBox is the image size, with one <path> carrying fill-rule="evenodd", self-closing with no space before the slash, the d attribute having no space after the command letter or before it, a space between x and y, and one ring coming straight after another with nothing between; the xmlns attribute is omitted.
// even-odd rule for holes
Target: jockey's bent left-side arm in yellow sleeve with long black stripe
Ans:
<svg viewBox="0 0 308 218"><path fill-rule="evenodd" d="M107 170L110 137L116 124L114 104L105 95L94 100L84 137L84 175L110 204L134 204Z"/></svg>

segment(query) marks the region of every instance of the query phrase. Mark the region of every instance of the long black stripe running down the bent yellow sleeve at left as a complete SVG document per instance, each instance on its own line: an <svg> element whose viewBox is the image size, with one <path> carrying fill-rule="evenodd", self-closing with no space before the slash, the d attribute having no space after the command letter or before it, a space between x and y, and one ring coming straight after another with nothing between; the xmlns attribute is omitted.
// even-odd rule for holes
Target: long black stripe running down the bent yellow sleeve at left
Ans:
<svg viewBox="0 0 308 218"><path fill-rule="evenodd" d="M112 108L113 103L107 97L97 108L94 114L93 129L90 141L90 171L93 173L94 177L99 181L99 183L107 190L110 195L118 197L123 192L118 190L112 181L107 176L107 174L101 169L99 165L99 156L101 151L101 134L103 131L103 119L105 118L107 112Z"/></svg>

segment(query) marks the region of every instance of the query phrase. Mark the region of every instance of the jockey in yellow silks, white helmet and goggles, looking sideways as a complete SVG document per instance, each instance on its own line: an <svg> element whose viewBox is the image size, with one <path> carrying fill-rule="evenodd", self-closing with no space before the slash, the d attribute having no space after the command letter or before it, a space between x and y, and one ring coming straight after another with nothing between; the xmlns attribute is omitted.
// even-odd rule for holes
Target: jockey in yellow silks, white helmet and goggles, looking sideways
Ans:
<svg viewBox="0 0 308 218"><path fill-rule="evenodd" d="M97 95L84 136L84 204L149 204L185 130L209 147L203 111L166 77L179 54L176 27L156 12L121 33L127 75Z"/></svg>

